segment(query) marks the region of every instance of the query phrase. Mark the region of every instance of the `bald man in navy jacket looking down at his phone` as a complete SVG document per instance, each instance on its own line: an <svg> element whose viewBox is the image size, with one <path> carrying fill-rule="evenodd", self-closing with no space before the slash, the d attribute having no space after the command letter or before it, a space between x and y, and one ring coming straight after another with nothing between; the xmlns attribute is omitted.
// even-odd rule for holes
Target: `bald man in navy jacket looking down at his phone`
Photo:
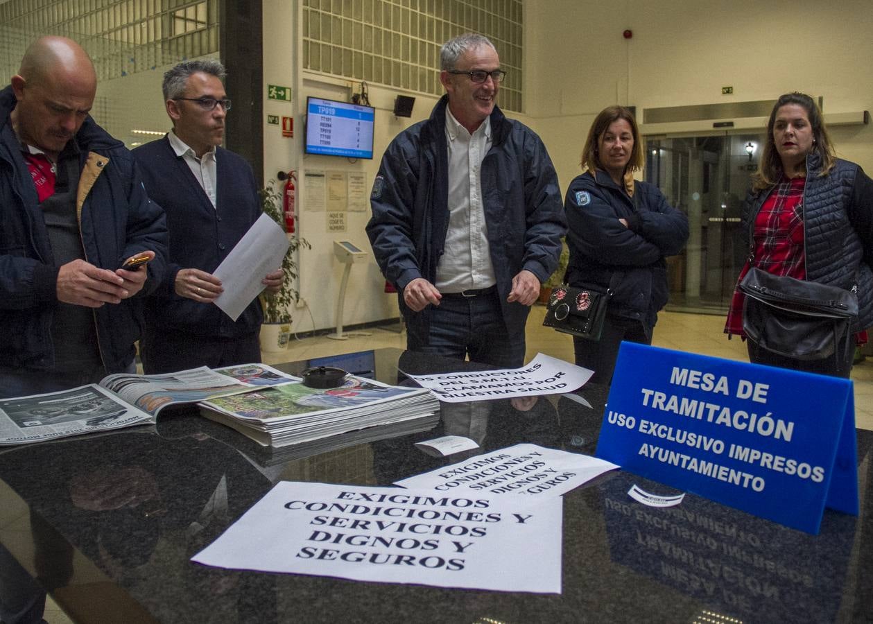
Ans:
<svg viewBox="0 0 873 624"><path fill-rule="evenodd" d="M3 398L135 370L139 296L161 278L167 230L130 153L89 115L96 89L78 44L43 37L0 91ZM147 268L120 268L139 255ZM0 620L44 621L44 608L45 591L0 546Z"/></svg>

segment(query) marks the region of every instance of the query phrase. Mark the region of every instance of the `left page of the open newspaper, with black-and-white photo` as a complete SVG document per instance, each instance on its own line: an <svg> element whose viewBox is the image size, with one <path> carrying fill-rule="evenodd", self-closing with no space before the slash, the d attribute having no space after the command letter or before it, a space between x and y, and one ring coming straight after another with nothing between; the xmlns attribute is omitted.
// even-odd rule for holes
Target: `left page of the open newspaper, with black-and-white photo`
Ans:
<svg viewBox="0 0 873 624"><path fill-rule="evenodd" d="M154 416L95 384L0 399L0 444L42 442L154 422Z"/></svg>

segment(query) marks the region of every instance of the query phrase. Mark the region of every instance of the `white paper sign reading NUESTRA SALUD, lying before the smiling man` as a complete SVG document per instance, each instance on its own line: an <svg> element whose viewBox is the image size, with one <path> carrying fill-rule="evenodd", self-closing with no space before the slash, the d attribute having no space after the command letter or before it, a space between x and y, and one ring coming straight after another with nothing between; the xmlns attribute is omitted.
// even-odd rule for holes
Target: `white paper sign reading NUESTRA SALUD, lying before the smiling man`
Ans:
<svg viewBox="0 0 873 624"><path fill-rule="evenodd" d="M588 368L537 353L531 363L523 368L407 376L432 390L440 401L460 403L573 392L591 379L593 374L594 371Z"/></svg>

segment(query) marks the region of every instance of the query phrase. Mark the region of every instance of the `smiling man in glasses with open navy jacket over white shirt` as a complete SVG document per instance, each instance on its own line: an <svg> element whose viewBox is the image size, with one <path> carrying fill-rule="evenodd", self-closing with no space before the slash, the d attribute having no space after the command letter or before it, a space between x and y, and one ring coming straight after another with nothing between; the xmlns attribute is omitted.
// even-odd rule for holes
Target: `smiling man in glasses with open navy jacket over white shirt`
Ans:
<svg viewBox="0 0 873 624"><path fill-rule="evenodd" d="M517 367L566 230L558 178L540 137L496 106L491 41L451 39L440 62L447 95L388 146L367 233L409 350Z"/></svg>

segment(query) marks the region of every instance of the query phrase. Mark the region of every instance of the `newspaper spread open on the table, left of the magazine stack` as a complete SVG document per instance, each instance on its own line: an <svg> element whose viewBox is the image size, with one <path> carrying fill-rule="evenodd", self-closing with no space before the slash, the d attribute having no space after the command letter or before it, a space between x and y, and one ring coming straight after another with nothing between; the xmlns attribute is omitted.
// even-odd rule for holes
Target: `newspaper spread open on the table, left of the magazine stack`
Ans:
<svg viewBox="0 0 873 624"><path fill-rule="evenodd" d="M154 423L158 412L168 405L295 381L299 377L265 364L215 370L200 367L156 375L111 374L99 385L0 399L0 444L43 442Z"/></svg>

